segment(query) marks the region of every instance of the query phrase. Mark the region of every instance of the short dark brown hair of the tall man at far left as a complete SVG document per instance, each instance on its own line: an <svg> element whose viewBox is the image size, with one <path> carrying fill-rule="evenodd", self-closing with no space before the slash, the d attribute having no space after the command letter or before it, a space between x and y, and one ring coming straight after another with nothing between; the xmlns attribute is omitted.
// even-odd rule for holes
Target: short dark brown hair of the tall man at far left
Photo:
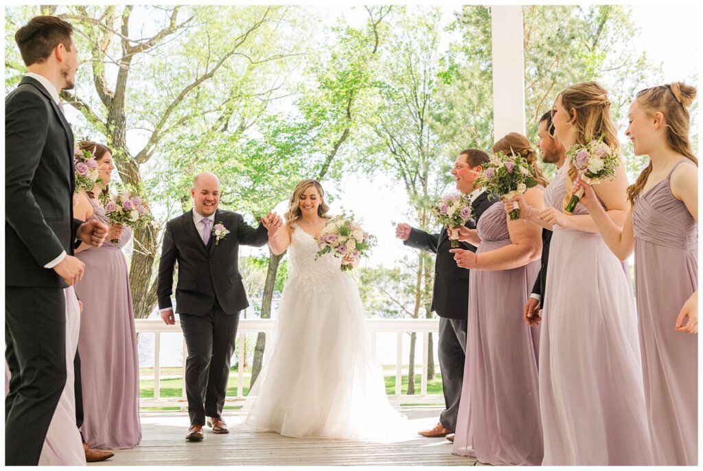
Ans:
<svg viewBox="0 0 703 471"><path fill-rule="evenodd" d="M51 55L58 44L63 44L67 51L71 50L73 27L56 16L35 16L15 33L15 42L20 48L22 60L29 67L32 64L43 63Z"/></svg>

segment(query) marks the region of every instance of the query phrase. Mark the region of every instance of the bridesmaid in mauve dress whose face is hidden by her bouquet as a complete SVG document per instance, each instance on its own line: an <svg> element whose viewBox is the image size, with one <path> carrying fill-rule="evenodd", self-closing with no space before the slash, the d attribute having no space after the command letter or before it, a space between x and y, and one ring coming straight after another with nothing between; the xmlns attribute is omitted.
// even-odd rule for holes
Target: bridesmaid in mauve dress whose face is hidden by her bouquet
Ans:
<svg viewBox="0 0 703 471"><path fill-rule="evenodd" d="M541 186L524 198L542 209L548 182L526 137L510 133L493 146L530 162ZM542 229L509 221L512 207L496 202L476 229L458 228L460 240L478 247L452 249L458 266L472 269L464 382L452 453L492 465L538 465L542 461L537 352L539 329L522 310L541 266ZM528 214L521 214L527 218Z"/></svg>

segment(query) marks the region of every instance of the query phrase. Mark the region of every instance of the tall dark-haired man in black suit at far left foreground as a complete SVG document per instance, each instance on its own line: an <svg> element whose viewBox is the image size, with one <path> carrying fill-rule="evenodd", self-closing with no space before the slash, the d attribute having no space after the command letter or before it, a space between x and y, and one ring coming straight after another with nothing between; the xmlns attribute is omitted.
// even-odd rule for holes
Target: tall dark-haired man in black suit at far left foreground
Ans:
<svg viewBox="0 0 703 471"><path fill-rule="evenodd" d="M81 279L78 241L108 227L73 219L73 134L58 92L72 89L72 27L37 16L15 34L27 75L5 98L5 463L37 465L67 380L63 288Z"/></svg>

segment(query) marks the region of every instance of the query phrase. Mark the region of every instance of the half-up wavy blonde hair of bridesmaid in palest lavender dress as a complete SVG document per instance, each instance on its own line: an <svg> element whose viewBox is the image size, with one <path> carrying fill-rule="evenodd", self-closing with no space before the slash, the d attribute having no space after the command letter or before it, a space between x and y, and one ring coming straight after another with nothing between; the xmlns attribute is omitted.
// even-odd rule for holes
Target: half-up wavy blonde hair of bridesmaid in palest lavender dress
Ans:
<svg viewBox="0 0 703 471"><path fill-rule="evenodd" d="M617 128L610 116L610 100L608 92L596 82L583 82L569 86L559 94L562 97L562 108L569 120L572 119L571 110L576 110L576 122L572 124L576 130L576 143L585 145L593 139L603 136L605 142L613 150L618 150ZM558 98L558 97L557 97ZM567 194L564 197L564 207L572 197L576 167L570 162L569 174L566 179Z"/></svg>

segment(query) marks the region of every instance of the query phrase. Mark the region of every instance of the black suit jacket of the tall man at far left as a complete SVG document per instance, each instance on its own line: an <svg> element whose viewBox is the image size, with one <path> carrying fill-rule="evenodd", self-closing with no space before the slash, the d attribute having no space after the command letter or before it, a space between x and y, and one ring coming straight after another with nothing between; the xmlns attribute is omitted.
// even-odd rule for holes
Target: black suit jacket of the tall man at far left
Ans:
<svg viewBox="0 0 703 471"><path fill-rule="evenodd" d="M5 285L65 288L44 265L73 254L73 133L32 77L5 98Z"/></svg>

